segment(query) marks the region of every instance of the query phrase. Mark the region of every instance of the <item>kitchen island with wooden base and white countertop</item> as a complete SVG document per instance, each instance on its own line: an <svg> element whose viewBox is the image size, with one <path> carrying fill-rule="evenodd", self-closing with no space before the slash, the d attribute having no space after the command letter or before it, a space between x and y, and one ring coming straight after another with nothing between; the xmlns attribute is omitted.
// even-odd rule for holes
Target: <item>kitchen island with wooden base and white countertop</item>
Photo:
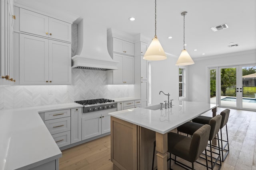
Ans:
<svg viewBox="0 0 256 170"><path fill-rule="evenodd" d="M111 161L114 170L151 169L154 141L158 170L167 170L167 134L176 127L212 110L217 105L173 101L171 108L160 104L109 113L111 115Z"/></svg>

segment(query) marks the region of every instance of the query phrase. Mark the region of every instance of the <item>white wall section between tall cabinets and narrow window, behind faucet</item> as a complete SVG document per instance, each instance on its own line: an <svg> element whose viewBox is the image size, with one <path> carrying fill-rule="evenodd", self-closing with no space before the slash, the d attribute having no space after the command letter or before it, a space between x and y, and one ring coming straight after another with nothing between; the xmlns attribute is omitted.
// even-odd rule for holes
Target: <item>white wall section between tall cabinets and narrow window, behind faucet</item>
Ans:
<svg viewBox="0 0 256 170"><path fill-rule="evenodd" d="M152 105L159 104L168 99L168 96L160 94L170 94L170 99L178 100L179 72L175 66L176 57L167 56L166 60L152 61Z"/></svg>

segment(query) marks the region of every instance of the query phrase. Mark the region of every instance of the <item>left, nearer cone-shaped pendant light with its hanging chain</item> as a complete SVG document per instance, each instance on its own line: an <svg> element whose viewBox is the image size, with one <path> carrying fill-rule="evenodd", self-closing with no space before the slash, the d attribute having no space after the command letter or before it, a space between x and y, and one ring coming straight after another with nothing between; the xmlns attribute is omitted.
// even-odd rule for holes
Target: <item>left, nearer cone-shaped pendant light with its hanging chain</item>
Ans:
<svg viewBox="0 0 256 170"><path fill-rule="evenodd" d="M155 37L152 39L145 55L143 56L144 60L165 60L167 59L164 49L161 46L157 36L156 36L156 0L155 0Z"/></svg>

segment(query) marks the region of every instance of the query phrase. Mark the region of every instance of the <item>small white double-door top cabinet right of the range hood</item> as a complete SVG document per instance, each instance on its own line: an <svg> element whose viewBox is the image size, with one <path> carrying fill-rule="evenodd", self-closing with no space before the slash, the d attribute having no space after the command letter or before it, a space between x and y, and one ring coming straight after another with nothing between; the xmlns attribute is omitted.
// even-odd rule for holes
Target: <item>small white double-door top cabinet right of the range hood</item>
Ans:
<svg viewBox="0 0 256 170"><path fill-rule="evenodd" d="M134 56L134 43L113 37L113 52Z"/></svg>

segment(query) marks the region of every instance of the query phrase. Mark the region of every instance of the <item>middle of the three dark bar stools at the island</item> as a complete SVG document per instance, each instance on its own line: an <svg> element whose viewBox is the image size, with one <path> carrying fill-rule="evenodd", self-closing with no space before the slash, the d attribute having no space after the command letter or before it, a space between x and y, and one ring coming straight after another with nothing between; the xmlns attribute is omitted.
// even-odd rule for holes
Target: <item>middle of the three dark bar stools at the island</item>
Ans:
<svg viewBox="0 0 256 170"><path fill-rule="evenodd" d="M217 138L219 139L219 135L218 135L218 131L220 130L220 124L222 121L222 116L221 115L216 115L215 117L212 117L212 119L210 119L209 121L209 125L211 126L211 130L210 130L210 136L209 136L209 141L210 141L210 157L211 157L211 169L214 168L214 166L217 164L218 160L220 160L220 167L221 167L221 158L220 158L220 142L218 140L218 150L219 153L217 152L213 152L212 151L212 139L214 139L214 137L217 135ZM178 132L182 132L182 133L186 133L188 135L193 135L193 133L199 129L200 127L202 127L203 124L200 123L195 123L195 122L187 122L184 123L183 125L177 127L177 131ZM192 136L193 137L193 136ZM217 158L214 158L212 156L212 154L217 154ZM215 159L215 161L213 162L213 158ZM198 162L199 164L202 164L200 162ZM204 165L204 164L202 164ZM206 165L204 165L206 166Z"/></svg>

